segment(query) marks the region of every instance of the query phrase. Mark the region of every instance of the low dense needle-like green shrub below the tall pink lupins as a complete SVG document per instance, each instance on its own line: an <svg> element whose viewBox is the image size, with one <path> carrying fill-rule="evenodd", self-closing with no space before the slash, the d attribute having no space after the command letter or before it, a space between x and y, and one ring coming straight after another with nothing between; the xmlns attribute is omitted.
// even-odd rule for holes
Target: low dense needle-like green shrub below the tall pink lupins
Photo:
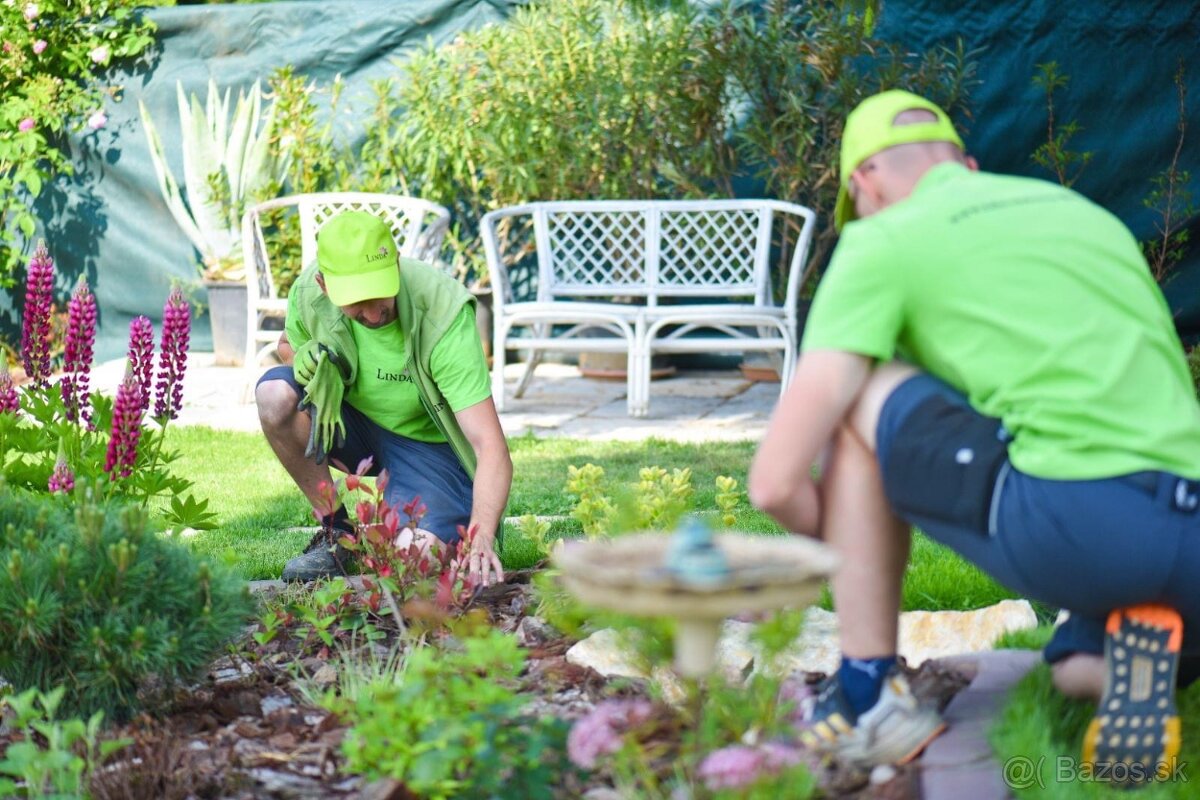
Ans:
<svg viewBox="0 0 1200 800"><path fill-rule="evenodd" d="M65 690L62 710L122 720L193 678L248 620L245 584L146 527L136 506L72 509L0 486L0 675L17 691Z"/></svg>

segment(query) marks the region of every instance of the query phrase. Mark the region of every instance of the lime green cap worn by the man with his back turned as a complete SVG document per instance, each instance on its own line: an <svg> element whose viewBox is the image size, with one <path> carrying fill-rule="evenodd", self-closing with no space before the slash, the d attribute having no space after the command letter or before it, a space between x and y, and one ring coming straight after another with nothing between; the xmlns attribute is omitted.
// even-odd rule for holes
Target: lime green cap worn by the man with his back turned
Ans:
<svg viewBox="0 0 1200 800"><path fill-rule="evenodd" d="M932 122L907 122L896 125L900 112L920 108L931 112L937 120ZM954 130L954 124L941 108L920 95L901 89L880 92L868 97L846 118L846 128L841 134L840 184L838 185L838 205L834 207L833 222L840 231L842 225L854 218L854 203L850 199L850 176L864 161L888 148L913 142L949 142L962 146L962 139Z"/></svg>

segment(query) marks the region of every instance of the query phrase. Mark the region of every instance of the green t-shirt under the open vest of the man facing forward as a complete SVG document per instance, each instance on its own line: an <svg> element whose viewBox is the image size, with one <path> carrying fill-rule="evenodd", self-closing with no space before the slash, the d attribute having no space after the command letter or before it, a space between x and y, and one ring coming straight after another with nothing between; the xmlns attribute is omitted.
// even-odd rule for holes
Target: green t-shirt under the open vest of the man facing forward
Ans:
<svg viewBox="0 0 1200 800"><path fill-rule="evenodd" d="M288 315L289 324L293 315ZM445 441L445 437L425 410L416 384L404 363L404 333L400 321L370 329L350 320L359 350L359 372L346 391L346 402L362 411L379 427L418 441ZM302 331L288 331L289 341L305 341ZM463 307L433 347L430 357L433 380L450 404L461 411L492 395L487 359L475 327L475 311Z"/></svg>

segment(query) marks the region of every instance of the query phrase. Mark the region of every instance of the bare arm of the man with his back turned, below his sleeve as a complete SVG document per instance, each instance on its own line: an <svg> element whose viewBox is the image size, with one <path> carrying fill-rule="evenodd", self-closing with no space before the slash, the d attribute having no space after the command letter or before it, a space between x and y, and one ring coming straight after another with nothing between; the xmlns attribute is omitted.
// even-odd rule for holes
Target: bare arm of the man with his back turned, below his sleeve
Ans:
<svg viewBox="0 0 1200 800"><path fill-rule="evenodd" d="M796 365L748 481L750 501L791 531L817 534L821 500L812 464L853 407L871 365L871 359L836 350L805 353Z"/></svg>

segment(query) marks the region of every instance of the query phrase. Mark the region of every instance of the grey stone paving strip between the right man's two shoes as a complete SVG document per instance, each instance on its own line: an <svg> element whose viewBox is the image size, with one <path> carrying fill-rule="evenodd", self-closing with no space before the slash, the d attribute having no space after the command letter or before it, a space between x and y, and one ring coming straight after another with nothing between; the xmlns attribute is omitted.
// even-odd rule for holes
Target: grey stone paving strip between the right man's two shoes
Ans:
<svg viewBox="0 0 1200 800"><path fill-rule="evenodd" d="M1036 650L994 650L947 660L949 663L973 662L976 675L946 706L942 715L949 726L946 733L930 742L920 757L923 800L1007 800L1012 796L992 754L988 732L1009 690L1040 658L1042 654Z"/></svg>

